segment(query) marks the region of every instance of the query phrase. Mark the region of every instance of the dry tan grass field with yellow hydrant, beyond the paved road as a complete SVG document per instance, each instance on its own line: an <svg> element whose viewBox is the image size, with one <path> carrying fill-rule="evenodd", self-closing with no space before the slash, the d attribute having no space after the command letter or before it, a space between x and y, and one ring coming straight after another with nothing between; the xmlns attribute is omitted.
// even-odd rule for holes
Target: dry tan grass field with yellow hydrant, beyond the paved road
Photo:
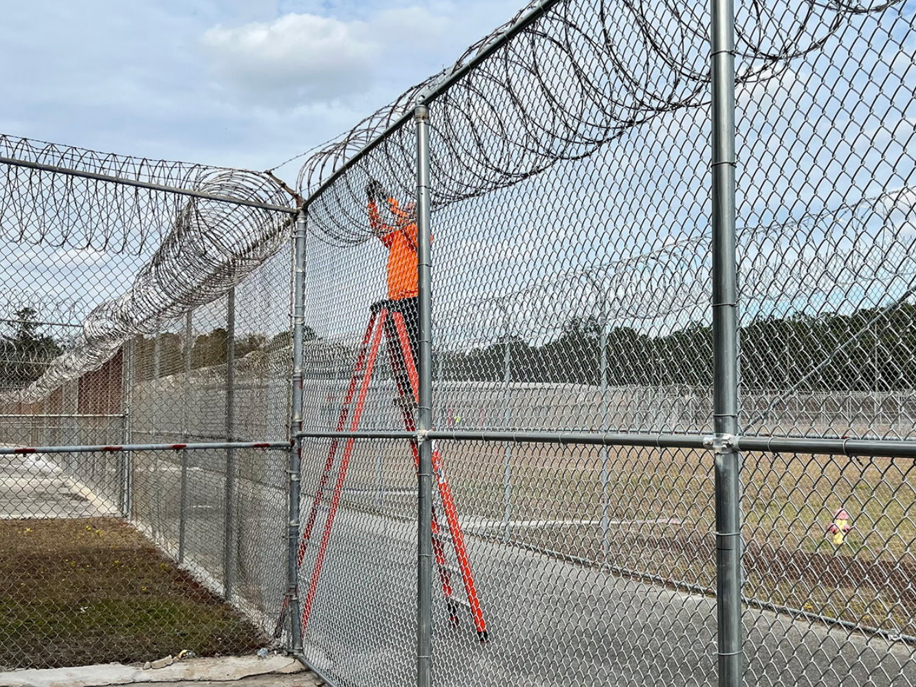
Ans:
<svg viewBox="0 0 916 687"><path fill-rule="evenodd" d="M512 541L714 587L710 453L485 442L440 442L440 448L463 520L492 523L471 529L475 535L505 535L508 464ZM790 453L746 453L744 461L745 594L916 635L916 462ZM603 463L606 542L597 525ZM379 505L372 496L378 484L415 488L407 447L360 442L347 484L362 491L345 502L368 508ZM409 517L410 498L386 496L382 510ZM825 529L839 507L852 516L853 529L837 547ZM573 522L545 523L562 520ZM524 524L531 521L540 524Z"/></svg>

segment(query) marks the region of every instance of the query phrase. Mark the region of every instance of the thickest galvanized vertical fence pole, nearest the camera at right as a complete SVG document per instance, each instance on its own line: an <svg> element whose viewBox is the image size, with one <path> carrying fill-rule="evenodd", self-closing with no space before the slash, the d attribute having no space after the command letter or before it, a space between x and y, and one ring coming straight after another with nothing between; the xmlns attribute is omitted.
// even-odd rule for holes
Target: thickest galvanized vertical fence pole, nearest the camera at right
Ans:
<svg viewBox="0 0 916 687"><path fill-rule="evenodd" d="M713 416L718 683L743 682L741 631L741 455L735 182L735 15L732 0L711 0Z"/></svg>

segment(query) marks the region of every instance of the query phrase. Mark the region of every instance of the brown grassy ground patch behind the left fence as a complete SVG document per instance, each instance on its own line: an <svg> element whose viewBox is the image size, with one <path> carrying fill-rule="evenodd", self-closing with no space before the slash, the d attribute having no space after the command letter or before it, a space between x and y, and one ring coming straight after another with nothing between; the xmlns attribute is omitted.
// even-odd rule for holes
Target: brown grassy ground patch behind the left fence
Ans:
<svg viewBox="0 0 916 687"><path fill-rule="evenodd" d="M0 520L0 670L251 653L255 627L117 518Z"/></svg>

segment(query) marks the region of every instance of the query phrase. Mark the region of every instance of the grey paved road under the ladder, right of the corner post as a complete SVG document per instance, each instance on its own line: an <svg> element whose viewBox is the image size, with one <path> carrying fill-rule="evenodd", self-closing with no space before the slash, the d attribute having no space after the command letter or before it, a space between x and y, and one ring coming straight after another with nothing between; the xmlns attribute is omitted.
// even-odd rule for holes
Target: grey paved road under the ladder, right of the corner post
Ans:
<svg viewBox="0 0 916 687"><path fill-rule="evenodd" d="M341 509L306 656L338 687L413 683L413 526ZM434 683L441 687L714 685L714 599L607 576L471 539L490 642L445 621L434 588ZM303 568L308 585L311 563ZM305 586L303 586L303 595ZM913 649L757 610L745 612L748 687L911 687Z"/></svg>

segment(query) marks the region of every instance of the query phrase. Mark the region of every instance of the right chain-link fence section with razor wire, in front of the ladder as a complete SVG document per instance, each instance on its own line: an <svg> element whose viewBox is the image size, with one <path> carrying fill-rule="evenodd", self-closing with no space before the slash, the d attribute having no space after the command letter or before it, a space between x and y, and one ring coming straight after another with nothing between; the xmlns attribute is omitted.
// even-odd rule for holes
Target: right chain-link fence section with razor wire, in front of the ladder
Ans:
<svg viewBox="0 0 916 687"><path fill-rule="evenodd" d="M709 8L583 1L530 5L302 169L300 619L335 684L916 683L913 7L735 12L734 160ZM424 193L405 411L370 306L412 307L386 232L420 224L422 275Z"/></svg>

